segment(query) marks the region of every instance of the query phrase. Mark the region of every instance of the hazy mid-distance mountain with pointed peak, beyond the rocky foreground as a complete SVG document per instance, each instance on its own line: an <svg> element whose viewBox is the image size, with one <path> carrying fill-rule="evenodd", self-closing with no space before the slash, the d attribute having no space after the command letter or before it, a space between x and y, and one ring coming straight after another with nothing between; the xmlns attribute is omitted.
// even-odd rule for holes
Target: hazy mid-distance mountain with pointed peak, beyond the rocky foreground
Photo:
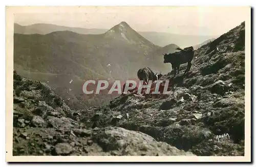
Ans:
<svg viewBox="0 0 256 167"><path fill-rule="evenodd" d="M89 79L126 80L137 78L137 71L151 66L157 71L164 70L162 57L148 57L148 53L159 49L134 31L127 23L121 22L104 34L84 35L71 31L52 32L46 35L14 34L14 69L23 76L40 81L49 81L68 103L86 103L82 92L84 81ZM160 60L160 61L159 61ZM38 78L39 74L42 78ZM62 76L62 79L57 77ZM74 89L69 81L73 78ZM65 82L63 82L65 80ZM67 86L68 85L68 86ZM79 100L80 99L80 100ZM88 99L88 98L86 98ZM101 104L98 98L93 104ZM108 100L107 100L108 101Z"/></svg>

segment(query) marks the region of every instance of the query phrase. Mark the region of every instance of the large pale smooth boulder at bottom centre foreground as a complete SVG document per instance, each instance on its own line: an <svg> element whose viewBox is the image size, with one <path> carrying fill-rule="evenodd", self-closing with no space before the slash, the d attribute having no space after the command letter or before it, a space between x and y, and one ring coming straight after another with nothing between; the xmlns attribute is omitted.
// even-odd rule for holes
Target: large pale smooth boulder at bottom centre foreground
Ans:
<svg viewBox="0 0 256 167"><path fill-rule="evenodd" d="M115 152L116 155L193 155L191 152L184 152L172 147L164 142L157 142L153 137L120 127L106 127L97 130L93 136L93 140L103 151ZM119 152L118 150L125 150Z"/></svg>

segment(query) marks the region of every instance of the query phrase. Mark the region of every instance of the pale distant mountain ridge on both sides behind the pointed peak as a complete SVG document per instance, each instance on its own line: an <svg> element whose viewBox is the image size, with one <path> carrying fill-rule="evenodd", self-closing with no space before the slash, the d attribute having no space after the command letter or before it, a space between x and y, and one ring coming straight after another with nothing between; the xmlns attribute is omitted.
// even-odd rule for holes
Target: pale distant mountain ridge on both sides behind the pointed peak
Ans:
<svg viewBox="0 0 256 167"><path fill-rule="evenodd" d="M67 27L54 24L31 24L27 26L22 26L17 23L14 24L14 33L17 34L41 34L46 35L56 31L72 31L78 34L103 34L108 32L107 29L84 29L81 27ZM140 32L138 33L151 41L153 44L158 46L166 46L171 43L175 43L180 47L194 46L198 45L208 39L217 38L216 36L198 36L198 35L181 35L172 33L162 33L162 32Z"/></svg>

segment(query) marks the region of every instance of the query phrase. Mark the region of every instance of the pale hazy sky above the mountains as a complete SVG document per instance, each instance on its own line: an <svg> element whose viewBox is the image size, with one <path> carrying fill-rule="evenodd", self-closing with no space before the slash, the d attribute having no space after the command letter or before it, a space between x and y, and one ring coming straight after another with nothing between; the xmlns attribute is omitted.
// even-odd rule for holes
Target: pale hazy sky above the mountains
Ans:
<svg viewBox="0 0 256 167"><path fill-rule="evenodd" d="M15 14L20 25L57 25L110 29L121 21L136 31L218 36L248 17L248 7L81 7L40 8ZM250 10L250 9L249 9Z"/></svg>

